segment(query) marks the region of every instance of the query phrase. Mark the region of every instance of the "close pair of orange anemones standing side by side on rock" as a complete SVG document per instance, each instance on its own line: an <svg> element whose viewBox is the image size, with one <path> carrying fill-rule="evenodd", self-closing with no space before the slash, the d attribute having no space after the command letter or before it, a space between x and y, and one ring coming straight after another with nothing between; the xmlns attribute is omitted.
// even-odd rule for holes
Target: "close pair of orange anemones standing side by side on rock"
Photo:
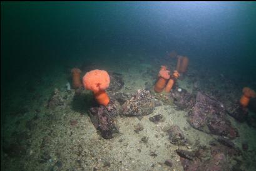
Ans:
<svg viewBox="0 0 256 171"><path fill-rule="evenodd" d="M173 74L171 76L170 71L166 69L166 66L161 66L161 69L158 73L158 81L156 82L154 87L155 92L162 92L163 89L165 89L165 92L170 92L173 85L175 84L175 80L178 79L178 77L180 77L178 71L173 71Z"/></svg>

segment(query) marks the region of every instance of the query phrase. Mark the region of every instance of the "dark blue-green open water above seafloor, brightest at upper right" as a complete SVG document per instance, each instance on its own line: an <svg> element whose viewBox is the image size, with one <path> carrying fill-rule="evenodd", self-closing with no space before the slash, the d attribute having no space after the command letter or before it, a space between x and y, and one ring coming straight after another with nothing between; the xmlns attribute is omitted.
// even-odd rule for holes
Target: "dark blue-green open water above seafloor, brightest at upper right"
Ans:
<svg viewBox="0 0 256 171"><path fill-rule="evenodd" d="M255 90L256 2L1 2L1 119L11 94L23 94L21 78L105 55L161 61L172 50Z"/></svg>

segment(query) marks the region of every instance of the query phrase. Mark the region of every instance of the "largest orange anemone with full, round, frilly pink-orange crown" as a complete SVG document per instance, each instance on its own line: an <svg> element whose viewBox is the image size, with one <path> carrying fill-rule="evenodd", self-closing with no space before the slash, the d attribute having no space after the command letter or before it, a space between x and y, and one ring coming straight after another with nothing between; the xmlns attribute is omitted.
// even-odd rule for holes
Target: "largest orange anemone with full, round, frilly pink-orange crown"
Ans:
<svg viewBox="0 0 256 171"><path fill-rule="evenodd" d="M105 91L110 86L108 72L99 69L86 72L83 77L83 85L85 89L93 91L98 104L108 105L110 97L108 97Z"/></svg>

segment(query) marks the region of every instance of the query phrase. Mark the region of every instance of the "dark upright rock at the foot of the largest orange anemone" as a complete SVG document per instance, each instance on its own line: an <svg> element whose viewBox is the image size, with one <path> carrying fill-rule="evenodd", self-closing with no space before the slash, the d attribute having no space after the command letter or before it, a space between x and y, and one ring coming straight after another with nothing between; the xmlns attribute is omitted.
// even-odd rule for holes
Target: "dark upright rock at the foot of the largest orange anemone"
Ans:
<svg viewBox="0 0 256 171"><path fill-rule="evenodd" d="M111 139L114 133L119 132L112 116L113 114L103 105L100 107L91 107L90 109L91 122L93 122L97 130L100 130L101 136L104 139Z"/></svg>

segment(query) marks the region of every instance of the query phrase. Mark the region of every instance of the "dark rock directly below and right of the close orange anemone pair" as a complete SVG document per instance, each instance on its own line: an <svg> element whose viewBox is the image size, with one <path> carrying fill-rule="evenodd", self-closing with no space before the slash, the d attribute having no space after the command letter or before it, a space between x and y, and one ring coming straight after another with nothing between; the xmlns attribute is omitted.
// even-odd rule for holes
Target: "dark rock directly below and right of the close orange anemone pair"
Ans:
<svg viewBox="0 0 256 171"><path fill-rule="evenodd" d="M176 87L173 89L171 97L173 97L173 103L177 105L180 110L191 109L195 104L195 95L190 94L185 89L182 89L182 91L179 92L178 87Z"/></svg>

